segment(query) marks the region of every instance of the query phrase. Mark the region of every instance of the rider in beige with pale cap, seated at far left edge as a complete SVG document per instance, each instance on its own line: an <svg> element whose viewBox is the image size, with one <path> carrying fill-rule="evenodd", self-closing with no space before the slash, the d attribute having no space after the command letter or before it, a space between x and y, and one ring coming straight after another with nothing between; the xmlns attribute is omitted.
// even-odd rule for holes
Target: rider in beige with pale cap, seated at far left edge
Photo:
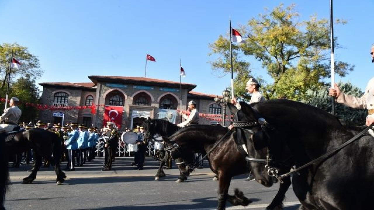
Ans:
<svg viewBox="0 0 374 210"><path fill-rule="evenodd" d="M22 111L18 108L19 100L12 97L9 101L9 108L4 110L4 114L0 116L0 133L12 131L18 126L17 122L21 117Z"/></svg>

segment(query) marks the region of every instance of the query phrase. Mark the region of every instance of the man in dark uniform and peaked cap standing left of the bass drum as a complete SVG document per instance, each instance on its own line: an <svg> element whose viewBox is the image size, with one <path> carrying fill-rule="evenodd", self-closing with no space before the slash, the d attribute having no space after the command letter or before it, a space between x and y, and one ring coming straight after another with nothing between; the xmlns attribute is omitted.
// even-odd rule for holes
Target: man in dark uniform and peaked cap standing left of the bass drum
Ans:
<svg viewBox="0 0 374 210"><path fill-rule="evenodd" d="M108 130L105 132L105 135L109 137L109 139L104 145L105 166L102 169L103 171L109 171L112 168L113 157L118 147L119 138L118 131L116 128L114 128L113 122L108 121L107 128Z"/></svg>

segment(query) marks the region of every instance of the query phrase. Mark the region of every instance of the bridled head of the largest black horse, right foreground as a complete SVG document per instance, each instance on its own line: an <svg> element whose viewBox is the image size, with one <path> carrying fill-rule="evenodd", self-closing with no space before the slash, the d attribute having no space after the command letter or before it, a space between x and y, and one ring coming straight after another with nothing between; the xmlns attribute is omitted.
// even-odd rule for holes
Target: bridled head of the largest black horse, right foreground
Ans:
<svg viewBox="0 0 374 210"><path fill-rule="evenodd" d="M230 111L234 114L234 133L236 142L243 142L248 150L248 156L252 160L251 168L255 179L264 186L270 187L273 184L265 169L268 155L268 135L266 132L266 121L260 117L258 111L245 102L240 102L241 109L237 110L229 105ZM261 161L260 161L261 160Z"/></svg>

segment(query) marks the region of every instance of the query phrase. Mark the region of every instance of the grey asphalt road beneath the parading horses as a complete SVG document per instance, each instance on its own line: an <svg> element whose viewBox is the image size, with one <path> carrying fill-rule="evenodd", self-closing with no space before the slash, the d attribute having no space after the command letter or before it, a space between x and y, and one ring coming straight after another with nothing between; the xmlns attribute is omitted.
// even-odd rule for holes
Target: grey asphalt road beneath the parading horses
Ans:
<svg viewBox="0 0 374 210"><path fill-rule="evenodd" d="M144 170L133 170L132 157L116 158L113 170L102 172L103 158L77 167L75 172L66 172L63 185L55 185L52 167L42 169L32 184L22 184L22 178L31 166L21 165L10 169L12 185L6 196L8 210L50 209L109 209L109 210L166 210L166 209L215 209L217 206L218 182L212 181L214 174L206 162L204 169L196 169L188 180L175 183L179 171L174 166L164 170L166 177L154 180L158 162L152 158L145 161ZM63 166L62 168L64 168ZM246 207L231 206L227 209L265 209L278 191L279 184L265 188L256 181L245 181L245 175L233 178L229 194L239 188L253 203ZM299 202L292 191L286 194L286 210L298 209Z"/></svg>

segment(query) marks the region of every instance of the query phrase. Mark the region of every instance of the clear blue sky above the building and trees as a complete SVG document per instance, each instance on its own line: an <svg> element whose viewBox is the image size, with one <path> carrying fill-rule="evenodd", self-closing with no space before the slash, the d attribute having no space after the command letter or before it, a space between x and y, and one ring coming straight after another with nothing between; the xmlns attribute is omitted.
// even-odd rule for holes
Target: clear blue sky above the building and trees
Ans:
<svg viewBox="0 0 374 210"><path fill-rule="evenodd" d="M329 18L329 0L3 0L0 1L1 43L18 43L38 56L44 71L40 82L90 82L88 75L147 77L179 81L179 60L194 91L221 95L230 86L230 75L218 77L208 63L209 43L233 28L264 13L264 8L295 3L300 19L317 14ZM350 81L364 89L373 77L370 59L372 0L335 0L334 18L348 21L334 25L343 46L335 59L356 66L336 81ZM257 62L253 73L266 78Z"/></svg>

